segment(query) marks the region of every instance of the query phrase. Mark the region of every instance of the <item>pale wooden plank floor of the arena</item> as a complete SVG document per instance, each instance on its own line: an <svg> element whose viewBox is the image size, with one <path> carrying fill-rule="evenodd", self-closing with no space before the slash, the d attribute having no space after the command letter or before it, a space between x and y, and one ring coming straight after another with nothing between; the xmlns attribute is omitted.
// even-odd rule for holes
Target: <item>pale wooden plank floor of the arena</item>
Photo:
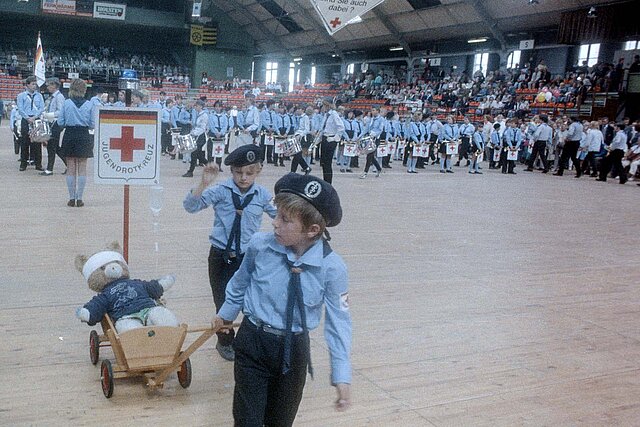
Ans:
<svg viewBox="0 0 640 427"><path fill-rule="evenodd" d="M180 177L179 161L161 166L160 233L148 189L131 191L132 275L176 273L169 307L207 323L212 212L187 214L196 179ZM231 425L233 365L215 339L192 356L190 388L175 375L158 392L121 380L103 397L91 328L74 317L92 292L73 259L122 238L122 188L90 180L86 206L68 208L61 171L58 161L50 177L18 172L3 124L0 424ZM337 174L344 219L332 245L349 267L353 407L332 408L319 329L296 425L640 424L640 188L521 171L408 175L395 163L377 179ZM283 172L268 165L259 181L272 189Z"/></svg>

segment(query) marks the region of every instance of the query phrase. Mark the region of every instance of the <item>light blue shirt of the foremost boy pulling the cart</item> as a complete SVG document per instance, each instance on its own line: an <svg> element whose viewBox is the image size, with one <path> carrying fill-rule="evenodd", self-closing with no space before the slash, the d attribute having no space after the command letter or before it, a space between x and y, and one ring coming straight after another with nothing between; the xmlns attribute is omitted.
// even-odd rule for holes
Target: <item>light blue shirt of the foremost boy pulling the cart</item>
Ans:
<svg viewBox="0 0 640 427"><path fill-rule="evenodd" d="M324 336L331 360L331 382L351 383L351 315L348 305L347 267L335 252L326 257L318 240L300 258L279 244L273 233L257 233L251 239L236 274L227 284L226 298L218 315L235 320L242 310L250 319L286 329L290 268L287 260L302 269L307 329L318 327L324 305ZM294 310L293 331L302 331L300 312Z"/></svg>

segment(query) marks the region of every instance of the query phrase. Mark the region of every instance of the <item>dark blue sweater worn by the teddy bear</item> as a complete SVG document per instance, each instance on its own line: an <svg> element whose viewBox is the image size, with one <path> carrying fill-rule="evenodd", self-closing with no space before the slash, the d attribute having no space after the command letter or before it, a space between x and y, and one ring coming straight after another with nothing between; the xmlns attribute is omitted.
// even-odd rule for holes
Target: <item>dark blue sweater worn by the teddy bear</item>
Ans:
<svg viewBox="0 0 640 427"><path fill-rule="evenodd" d="M84 305L91 314L88 324L95 325L105 313L115 322L122 316L155 307L158 305L155 300L163 293L164 289L157 280L118 279Z"/></svg>

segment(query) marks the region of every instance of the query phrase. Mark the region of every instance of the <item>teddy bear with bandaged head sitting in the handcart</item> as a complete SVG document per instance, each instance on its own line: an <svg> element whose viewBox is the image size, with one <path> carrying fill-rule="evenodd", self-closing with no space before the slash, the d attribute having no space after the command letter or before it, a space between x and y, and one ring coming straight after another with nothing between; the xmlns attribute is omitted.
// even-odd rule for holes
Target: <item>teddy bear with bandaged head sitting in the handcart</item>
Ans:
<svg viewBox="0 0 640 427"><path fill-rule="evenodd" d="M76 309L76 317L82 322L93 326L109 314L118 333L148 325L178 326L176 316L157 302L173 286L175 276L151 281L131 279L118 242L90 257L78 255L75 266L89 289L98 293Z"/></svg>

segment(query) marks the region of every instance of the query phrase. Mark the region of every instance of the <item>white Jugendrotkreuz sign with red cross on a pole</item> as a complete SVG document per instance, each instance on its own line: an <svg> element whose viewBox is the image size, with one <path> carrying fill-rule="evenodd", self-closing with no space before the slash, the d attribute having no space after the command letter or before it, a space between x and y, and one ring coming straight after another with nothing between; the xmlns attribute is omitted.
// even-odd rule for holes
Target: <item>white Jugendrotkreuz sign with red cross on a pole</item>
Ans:
<svg viewBox="0 0 640 427"><path fill-rule="evenodd" d="M160 183L160 110L98 110L94 178L98 184Z"/></svg>

